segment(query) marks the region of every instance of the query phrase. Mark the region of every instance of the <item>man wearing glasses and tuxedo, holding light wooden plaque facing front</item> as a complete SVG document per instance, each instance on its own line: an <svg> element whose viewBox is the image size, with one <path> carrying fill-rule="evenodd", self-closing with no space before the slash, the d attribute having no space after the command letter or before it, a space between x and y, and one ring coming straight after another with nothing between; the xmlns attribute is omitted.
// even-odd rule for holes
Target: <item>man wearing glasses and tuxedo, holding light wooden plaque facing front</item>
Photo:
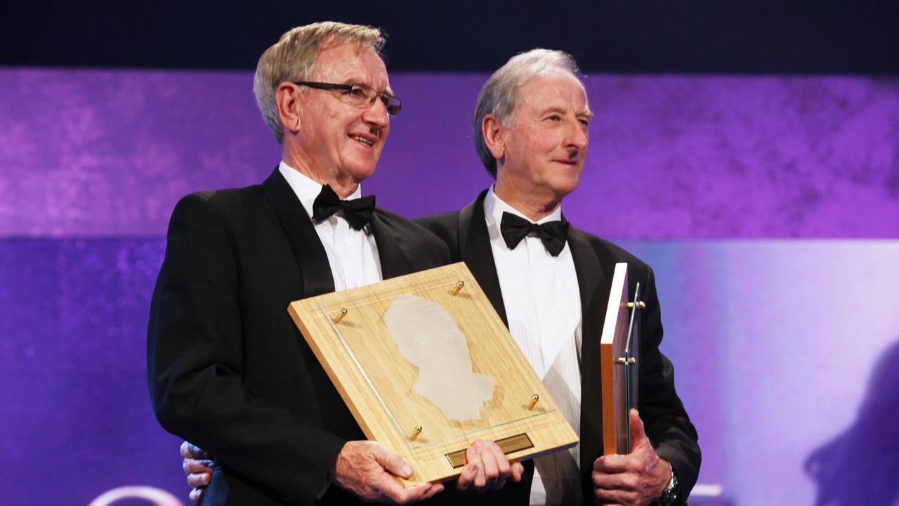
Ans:
<svg viewBox="0 0 899 506"><path fill-rule="evenodd" d="M426 500L413 470L364 435L287 313L291 301L444 265L446 245L374 207L375 170L400 101L377 29L285 33L254 77L282 161L262 185L177 204L147 332L163 427L216 456L202 504ZM493 442L469 448L459 488L521 479Z"/></svg>

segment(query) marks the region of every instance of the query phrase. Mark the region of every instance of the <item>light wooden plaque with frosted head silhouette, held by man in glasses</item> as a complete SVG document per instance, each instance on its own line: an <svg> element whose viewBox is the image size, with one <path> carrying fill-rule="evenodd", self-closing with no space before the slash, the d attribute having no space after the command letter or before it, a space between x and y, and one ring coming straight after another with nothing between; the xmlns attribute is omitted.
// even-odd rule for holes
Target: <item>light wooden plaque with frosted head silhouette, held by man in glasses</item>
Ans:
<svg viewBox="0 0 899 506"><path fill-rule="evenodd" d="M414 339L415 353L433 351L421 367L411 361L417 358L408 341L396 338L392 308L410 298L428 311L439 312L439 306L449 313L441 314L442 320L455 321L456 326L440 336ZM465 450L478 438L493 439L510 459L577 444L574 430L464 263L303 299L290 303L288 311L366 436L412 465L412 477L399 479L405 486L457 476L465 465ZM417 331L414 324L403 329ZM456 351L447 352L446 342ZM460 342L467 346L471 377L478 384L493 380L489 399L476 402L476 418L467 420L458 420L458 411L456 419L448 417L445 404L435 403L443 400L440 396L420 393L430 392L422 382L435 378L434 357L447 356L456 357L447 359L452 370L462 371L451 377L464 379L439 392L467 395L470 378L465 360L458 359ZM462 366L456 367L458 363ZM438 370L447 366L441 360L437 364ZM444 378L438 375L435 381Z"/></svg>

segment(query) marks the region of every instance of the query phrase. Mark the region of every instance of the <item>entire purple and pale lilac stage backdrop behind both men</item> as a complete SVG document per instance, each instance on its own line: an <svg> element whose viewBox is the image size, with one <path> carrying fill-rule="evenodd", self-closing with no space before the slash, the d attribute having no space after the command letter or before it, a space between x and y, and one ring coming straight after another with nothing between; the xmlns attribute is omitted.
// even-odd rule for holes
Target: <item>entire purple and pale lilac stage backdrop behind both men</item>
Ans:
<svg viewBox="0 0 899 506"><path fill-rule="evenodd" d="M394 75L404 109L363 191L415 217L489 185L470 133L485 78ZM177 199L280 160L251 82L0 70L0 502L121 485L187 501L180 439L147 398L149 296ZM899 79L587 87L590 155L565 215L654 266L700 483L719 503L810 504L813 476L842 476L838 493L895 471L840 465L899 444L899 378L878 366L899 347ZM863 502L888 503L894 471Z"/></svg>

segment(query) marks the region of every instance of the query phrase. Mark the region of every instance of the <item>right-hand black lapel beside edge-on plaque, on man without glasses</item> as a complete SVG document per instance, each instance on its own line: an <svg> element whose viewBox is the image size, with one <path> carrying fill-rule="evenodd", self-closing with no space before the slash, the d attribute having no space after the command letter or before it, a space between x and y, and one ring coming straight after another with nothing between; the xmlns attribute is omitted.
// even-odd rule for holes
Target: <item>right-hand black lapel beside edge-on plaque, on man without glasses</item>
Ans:
<svg viewBox="0 0 899 506"><path fill-rule="evenodd" d="M581 469L592 469L602 449L600 337L609 286L586 234L569 230L568 247L581 293Z"/></svg>

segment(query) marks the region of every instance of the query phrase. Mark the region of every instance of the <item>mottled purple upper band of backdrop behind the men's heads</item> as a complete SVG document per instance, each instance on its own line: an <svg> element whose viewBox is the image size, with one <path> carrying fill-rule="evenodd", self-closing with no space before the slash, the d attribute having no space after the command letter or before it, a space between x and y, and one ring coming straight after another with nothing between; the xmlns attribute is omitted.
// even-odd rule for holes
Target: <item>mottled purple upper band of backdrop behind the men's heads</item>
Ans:
<svg viewBox="0 0 899 506"><path fill-rule="evenodd" d="M365 185L378 203L407 216L449 211L489 184L469 126L484 81L393 77L403 113ZM0 71L0 235L164 234L182 194L261 181L280 148L251 82L245 72ZM899 217L899 79L587 82L592 154L565 202L583 228L647 239L899 235L889 219Z"/></svg>

